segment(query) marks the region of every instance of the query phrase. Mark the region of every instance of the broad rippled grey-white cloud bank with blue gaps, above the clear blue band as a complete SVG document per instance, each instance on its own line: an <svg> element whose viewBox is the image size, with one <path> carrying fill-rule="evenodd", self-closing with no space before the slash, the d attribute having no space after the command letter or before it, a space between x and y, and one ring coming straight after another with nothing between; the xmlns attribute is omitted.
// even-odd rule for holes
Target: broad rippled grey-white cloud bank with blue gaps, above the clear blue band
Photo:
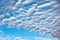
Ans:
<svg viewBox="0 0 60 40"><path fill-rule="evenodd" d="M8 24L10 28L24 27L60 38L60 4L54 0L38 1L40 0L1 1L0 24Z"/></svg>

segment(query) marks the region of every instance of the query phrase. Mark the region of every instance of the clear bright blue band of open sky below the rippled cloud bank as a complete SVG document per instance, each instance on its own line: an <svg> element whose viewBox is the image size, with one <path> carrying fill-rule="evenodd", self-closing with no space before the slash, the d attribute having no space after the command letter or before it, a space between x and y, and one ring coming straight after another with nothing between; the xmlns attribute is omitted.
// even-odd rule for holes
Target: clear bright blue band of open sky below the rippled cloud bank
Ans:
<svg viewBox="0 0 60 40"><path fill-rule="evenodd" d="M4 27L6 27L6 26L4 26ZM55 37L48 36L46 34L45 35L39 34L39 33L34 32L34 31L30 32L29 30L24 29L24 28L20 28L20 29L17 29L17 28L0 28L0 30L3 31L0 33L0 37L3 37L3 38L9 37L10 40L14 40L16 37L22 37L22 40L23 39L38 40L39 38L42 38L42 39L48 38L48 40L57 40L57 38L55 38ZM35 39L35 37L37 37L38 39Z"/></svg>

